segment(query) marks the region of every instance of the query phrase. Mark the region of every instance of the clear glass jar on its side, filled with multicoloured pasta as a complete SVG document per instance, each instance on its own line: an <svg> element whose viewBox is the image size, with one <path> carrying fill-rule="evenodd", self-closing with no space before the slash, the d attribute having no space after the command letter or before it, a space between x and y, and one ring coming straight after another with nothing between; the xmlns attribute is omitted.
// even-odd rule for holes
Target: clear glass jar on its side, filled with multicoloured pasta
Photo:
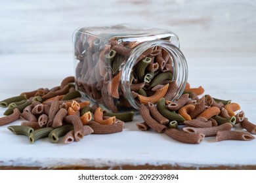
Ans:
<svg viewBox="0 0 256 183"><path fill-rule="evenodd" d="M82 27L74 32L73 44L77 90L112 112L139 109L140 103L156 103L160 97L175 101L184 91L188 67L171 31Z"/></svg>

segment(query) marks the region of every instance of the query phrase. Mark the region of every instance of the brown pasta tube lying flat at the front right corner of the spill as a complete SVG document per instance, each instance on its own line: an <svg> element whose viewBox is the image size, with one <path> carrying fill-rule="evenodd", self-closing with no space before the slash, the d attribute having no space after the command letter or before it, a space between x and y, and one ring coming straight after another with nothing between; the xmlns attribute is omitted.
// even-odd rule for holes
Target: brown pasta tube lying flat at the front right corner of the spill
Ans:
<svg viewBox="0 0 256 183"><path fill-rule="evenodd" d="M236 140L236 141L251 141L255 139L253 135L246 131L218 131L216 141Z"/></svg>

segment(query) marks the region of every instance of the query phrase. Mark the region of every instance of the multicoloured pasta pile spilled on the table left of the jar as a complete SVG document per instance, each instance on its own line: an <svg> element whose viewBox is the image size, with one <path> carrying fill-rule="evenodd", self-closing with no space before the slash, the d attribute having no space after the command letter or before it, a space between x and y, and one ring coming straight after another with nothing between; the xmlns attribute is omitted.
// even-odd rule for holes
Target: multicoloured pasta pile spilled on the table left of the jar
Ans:
<svg viewBox="0 0 256 183"><path fill-rule="evenodd" d="M68 144L91 133L123 131L124 122L133 120L134 112L105 112L96 105L89 107L90 102L81 102L80 97L74 87L74 77L69 76L51 90L39 88L1 101L0 106L8 109L4 113L7 116L0 118L0 125L21 118L26 122L8 129L16 135L28 136L30 143L44 137L56 143L64 136L62 142Z"/></svg>

